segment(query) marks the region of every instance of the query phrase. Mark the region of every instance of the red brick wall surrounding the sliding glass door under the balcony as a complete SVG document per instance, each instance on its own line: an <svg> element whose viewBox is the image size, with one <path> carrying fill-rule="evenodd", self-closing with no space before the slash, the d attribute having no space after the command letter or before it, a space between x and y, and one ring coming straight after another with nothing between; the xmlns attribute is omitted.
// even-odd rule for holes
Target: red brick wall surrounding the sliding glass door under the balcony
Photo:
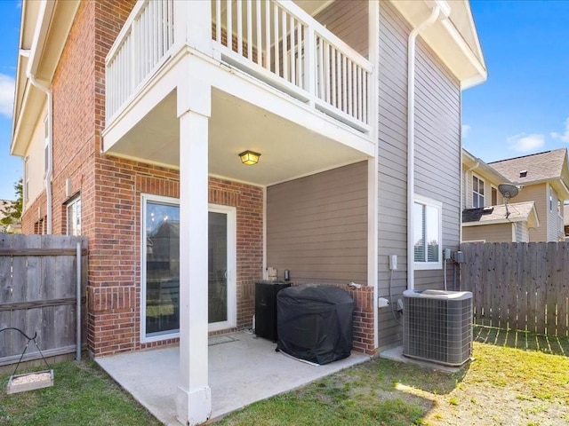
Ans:
<svg viewBox="0 0 569 426"><path fill-rule="evenodd" d="M95 355L174 343L140 343L140 217L143 193L179 197L177 170L111 157L97 165L90 241L89 343ZM236 207L237 327L251 327L254 281L262 278L262 189L210 178L209 202ZM223 330L217 333L227 332Z"/></svg>

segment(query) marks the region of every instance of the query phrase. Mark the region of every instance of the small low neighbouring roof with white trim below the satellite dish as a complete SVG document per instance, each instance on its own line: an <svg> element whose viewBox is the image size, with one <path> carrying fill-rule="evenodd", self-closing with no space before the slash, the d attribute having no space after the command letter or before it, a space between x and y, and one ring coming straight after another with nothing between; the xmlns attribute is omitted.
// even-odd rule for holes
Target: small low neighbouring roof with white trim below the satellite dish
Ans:
<svg viewBox="0 0 569 426"><path fill-rule="evenodd" d="M540 225L535 203L533 201L513 202L506 205L485 207L483 209L462 210L462 225L491 225L505 224L507 222L525 222L530 228Z"/></svg>

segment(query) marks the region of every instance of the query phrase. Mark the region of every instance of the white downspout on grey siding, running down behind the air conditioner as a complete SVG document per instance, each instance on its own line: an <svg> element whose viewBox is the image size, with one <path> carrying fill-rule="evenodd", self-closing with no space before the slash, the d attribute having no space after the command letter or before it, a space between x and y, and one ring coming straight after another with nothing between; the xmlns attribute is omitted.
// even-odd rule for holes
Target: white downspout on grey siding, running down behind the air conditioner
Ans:
<svg viewBox="0 0 569 426"><path fill-rule="evenodd" d="M415 288L413 201L415 198L415 45L421 31L432 25L441 9L435 5L429 18L409 34L407 43L407 288Z"/></svg>

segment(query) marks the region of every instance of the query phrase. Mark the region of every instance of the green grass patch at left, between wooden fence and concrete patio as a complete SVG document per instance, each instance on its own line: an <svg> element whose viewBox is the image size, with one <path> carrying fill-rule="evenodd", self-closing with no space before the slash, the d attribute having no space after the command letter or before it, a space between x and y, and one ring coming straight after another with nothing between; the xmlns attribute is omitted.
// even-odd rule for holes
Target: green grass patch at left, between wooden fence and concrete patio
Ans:
<svg viewBox="0 0 569 426"><path fill-rule="evenodd" d="M0 378L2 425L159 425L145 408L92 361L54 365L50 388L6 394L9 376Z"/></svg>

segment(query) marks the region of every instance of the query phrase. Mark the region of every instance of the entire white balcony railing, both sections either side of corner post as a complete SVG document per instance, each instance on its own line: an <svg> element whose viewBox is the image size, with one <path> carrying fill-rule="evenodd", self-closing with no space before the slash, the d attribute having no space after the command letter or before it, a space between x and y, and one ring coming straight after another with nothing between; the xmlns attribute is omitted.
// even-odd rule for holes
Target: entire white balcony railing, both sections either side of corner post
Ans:
<svg viewBox="0 0 569 426"><path fill-rule="evenodd" d="M183 2L182 2L183 3ZM370 130L370 62L292 2L213 0L212 59L352 129ZM141 0L106 59L106 122L186 45L188 17L173 0Z"/></svg>

